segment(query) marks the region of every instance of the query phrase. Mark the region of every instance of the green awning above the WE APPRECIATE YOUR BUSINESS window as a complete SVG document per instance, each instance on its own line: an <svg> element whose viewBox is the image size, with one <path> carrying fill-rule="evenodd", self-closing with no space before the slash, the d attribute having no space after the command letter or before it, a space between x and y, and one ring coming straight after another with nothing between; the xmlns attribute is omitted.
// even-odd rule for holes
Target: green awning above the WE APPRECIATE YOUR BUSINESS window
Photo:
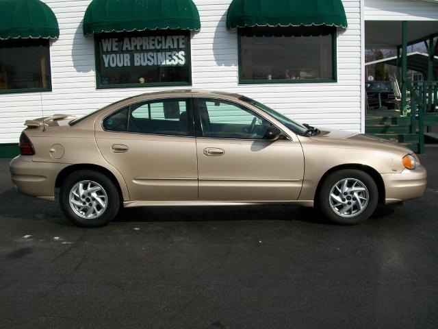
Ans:
<svg viewBox="0 0 438 329"><path fill-rule="evenodd" d="M201 29L192 0L93 0L83 17L83 34Z"/></svg>

